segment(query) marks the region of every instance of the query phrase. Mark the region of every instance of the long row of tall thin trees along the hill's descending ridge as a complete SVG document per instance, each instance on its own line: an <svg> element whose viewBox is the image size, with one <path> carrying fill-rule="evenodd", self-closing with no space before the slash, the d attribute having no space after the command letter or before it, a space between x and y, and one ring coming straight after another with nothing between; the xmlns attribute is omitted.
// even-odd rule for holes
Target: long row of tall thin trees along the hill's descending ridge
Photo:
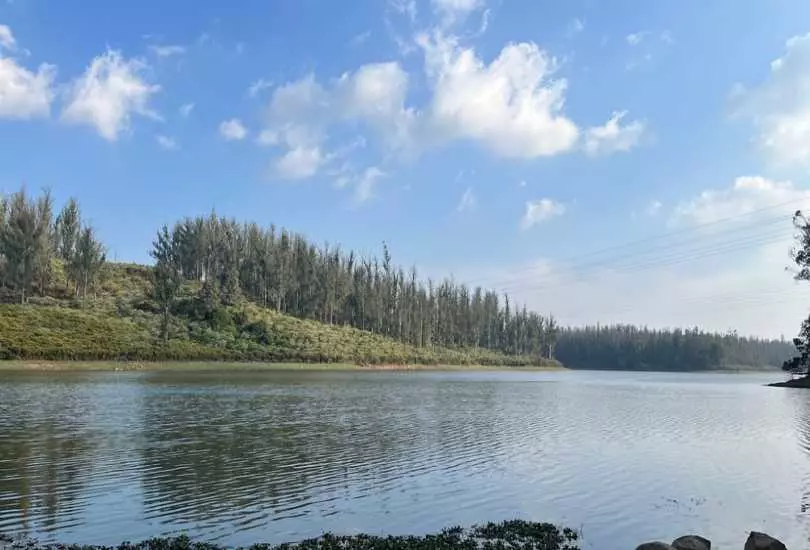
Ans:
<svg viewBox="0 0 810 550"><path fill-rule="evenodd" d="M240 297L281 313L342 324L417 347L487 348L553 358L558 326L551 316L516 308L509 297L453 280L421 280L416 268L317 246L275 226L211 214L164 226L153 243L155 298L168 321L186 281L207 299ZM167 325L168 323L165 323Z"/></svg>

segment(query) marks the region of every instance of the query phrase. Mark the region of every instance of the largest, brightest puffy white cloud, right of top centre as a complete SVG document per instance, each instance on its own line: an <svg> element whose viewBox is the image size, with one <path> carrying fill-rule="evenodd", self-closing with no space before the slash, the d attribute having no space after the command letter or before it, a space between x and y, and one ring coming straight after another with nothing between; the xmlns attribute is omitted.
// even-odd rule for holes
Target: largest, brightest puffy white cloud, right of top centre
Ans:
<svg viewBox="0 0 810 550"><path fill-rule="evenodd" d="M455 39L418 38L433 87L430 135L472 139L503 157L533 158L568 151L576 125L562 113L565 79L552 79L555 60L533 43L510 44L487 65Z"/></svg>

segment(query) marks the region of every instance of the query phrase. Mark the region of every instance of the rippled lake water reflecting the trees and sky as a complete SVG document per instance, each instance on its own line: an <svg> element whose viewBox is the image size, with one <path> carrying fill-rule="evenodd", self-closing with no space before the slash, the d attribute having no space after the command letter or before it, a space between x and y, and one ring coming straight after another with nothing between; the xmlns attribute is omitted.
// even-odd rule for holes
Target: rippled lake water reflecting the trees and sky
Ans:
<svg viewBox="0 0 810 550"><path fill-rule="evenodd" d="M780 377L0 372L0 531L246 545L522 517L599 550L807 548L810 391Z"/></svg>

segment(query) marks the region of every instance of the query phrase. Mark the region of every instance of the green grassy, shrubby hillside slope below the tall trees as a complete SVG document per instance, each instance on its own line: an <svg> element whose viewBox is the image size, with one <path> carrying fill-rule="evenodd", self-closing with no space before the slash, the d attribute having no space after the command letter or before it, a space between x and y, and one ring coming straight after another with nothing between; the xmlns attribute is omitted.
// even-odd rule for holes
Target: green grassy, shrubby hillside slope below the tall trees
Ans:
<svg viewBox="0 0 810 550"><path fill-rule="evenodd" d="M346 326L298 319L247 301L206 308L199 287L184 287L170 338L145 266L108 264L96 296L75 299L54 265L48 297L0 305L0 358L45 360L223 360L357 364L553 365L487 350L417 348Z"/></svg>

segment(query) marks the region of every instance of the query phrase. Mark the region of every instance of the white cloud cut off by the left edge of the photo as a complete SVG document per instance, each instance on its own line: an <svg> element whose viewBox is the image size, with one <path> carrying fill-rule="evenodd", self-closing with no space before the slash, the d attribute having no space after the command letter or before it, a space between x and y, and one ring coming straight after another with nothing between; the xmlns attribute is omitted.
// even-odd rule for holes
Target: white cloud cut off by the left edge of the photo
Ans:
<svg viewBox="0 0 810 550"><path fill-rule="evenodd" d="M0 57L0 118L47 117L53 101L56 69L42 64L36 72Z"/></svg>

